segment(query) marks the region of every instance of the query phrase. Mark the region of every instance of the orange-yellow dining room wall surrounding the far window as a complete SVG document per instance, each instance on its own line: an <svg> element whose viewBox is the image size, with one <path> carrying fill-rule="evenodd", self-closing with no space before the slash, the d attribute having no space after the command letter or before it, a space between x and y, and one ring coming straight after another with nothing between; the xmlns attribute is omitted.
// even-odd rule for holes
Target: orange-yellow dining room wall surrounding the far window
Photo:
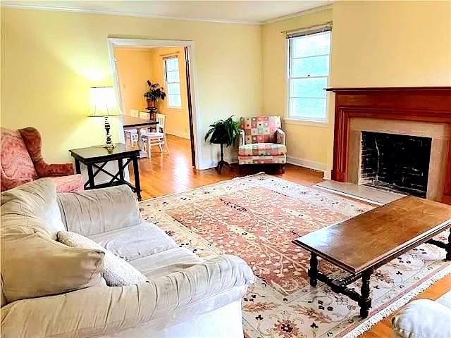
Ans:
<svg viewBox="0 0 451 338"><path fill-rule="evenodd" d="M164 87L166 94L167 85L164 80L163 58L167 56L178 57L178 70L180 72L180 93L182 94L182 108L171 108L168 100L159 101L159 112L166 115L166 132L179 137L190 138L190 120L188 117L188 96L186 82L185 51L183 47L161 47L153 49L152 56L152 80Z"/></svg>

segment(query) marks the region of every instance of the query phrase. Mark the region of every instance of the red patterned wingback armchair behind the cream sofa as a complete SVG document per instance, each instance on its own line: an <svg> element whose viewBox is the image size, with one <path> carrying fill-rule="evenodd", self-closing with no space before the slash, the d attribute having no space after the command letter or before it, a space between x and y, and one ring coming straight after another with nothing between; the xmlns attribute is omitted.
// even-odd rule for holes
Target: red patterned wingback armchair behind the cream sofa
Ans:
<svg viewBox="0 0 451 338"><path fill-rule="evenodd" d="M83 190L82 175L73 175L73 164L48 164L41 154L41 135L32 127L19 130L1 128L1 191L32 180L49 177L57 192Z"/></svg>

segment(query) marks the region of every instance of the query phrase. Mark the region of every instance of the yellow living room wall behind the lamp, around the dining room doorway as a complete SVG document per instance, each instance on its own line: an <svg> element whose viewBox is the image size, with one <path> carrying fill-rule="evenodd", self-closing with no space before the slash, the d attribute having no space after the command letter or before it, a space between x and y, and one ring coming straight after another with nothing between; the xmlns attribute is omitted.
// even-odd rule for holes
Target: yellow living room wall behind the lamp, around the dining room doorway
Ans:
<svg viewBox="0 0 451 338"><path fill-rule="evenodd" d="M1 125L37 127L49 161L104 142L103 121L87 113L89 87L113 84L108 37L194 41L202 139L219 118L261 111L257 25L12 8L1 8L1 25ZM218 147L203 142L201 154L202 168L213 166Z"/></svg>

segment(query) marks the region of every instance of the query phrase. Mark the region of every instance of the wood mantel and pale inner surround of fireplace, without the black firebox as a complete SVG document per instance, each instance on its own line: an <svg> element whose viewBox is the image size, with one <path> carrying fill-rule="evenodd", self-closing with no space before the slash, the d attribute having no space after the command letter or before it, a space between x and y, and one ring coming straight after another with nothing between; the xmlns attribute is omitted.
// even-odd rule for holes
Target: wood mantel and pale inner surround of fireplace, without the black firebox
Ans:
<svg viewBox="0 0 451 338"><path fill-rule="evenodd" d="M451 87L326 90L335 94L332 180L358 183L362 131L431 137L427 197L451 204Z"/></svg>

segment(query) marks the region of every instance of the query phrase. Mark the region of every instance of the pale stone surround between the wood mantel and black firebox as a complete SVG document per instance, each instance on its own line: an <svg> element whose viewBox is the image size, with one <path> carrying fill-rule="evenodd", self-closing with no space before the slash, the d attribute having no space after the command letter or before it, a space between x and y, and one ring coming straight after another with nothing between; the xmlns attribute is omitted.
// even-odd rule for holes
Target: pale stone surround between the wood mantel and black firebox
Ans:
<svg viewBox="0 0 451 338"><path fill-rule="evenodd" d="M427 199L440 200L445 186L446 161L450 147L451 131L447 123L428 123L378 118L351 118L347 182L362 184L362 132L383 132L419 137L431 137Z"/></svg>

